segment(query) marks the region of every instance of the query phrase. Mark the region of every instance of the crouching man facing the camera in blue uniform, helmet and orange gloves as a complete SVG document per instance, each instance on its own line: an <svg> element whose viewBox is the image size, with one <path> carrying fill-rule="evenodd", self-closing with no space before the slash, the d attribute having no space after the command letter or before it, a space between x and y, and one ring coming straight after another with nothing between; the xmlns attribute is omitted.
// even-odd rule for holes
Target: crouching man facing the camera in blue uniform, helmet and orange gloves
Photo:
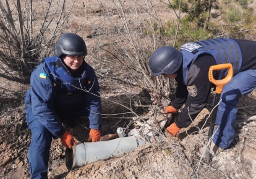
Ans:
<svg viewBox="0 0 256 179"><path fill-rule="evenodd" d="M100 141L100 87L93 68L85 62L87 48L74 33L62 35L56 43L55 56L43 59L33 70L31 87L25 95L26 122L32 131L28 150L31 178L48 178L49 150L52 139L61 138L71 149L73 136L62 122L87 116L89 141Z"/></svg>

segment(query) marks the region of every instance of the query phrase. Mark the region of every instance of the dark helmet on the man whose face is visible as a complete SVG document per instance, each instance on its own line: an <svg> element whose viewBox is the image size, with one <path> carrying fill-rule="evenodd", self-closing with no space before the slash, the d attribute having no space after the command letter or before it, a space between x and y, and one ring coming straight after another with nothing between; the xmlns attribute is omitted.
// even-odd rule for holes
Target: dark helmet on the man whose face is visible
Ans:
<svg viewBox="0 0 256 179"><path fill-rule="evenodd" d="M87 49L82 37L74 33L64 33L55 45L54 54L60 57L62 54L71 56L86 56Z"/></svg>

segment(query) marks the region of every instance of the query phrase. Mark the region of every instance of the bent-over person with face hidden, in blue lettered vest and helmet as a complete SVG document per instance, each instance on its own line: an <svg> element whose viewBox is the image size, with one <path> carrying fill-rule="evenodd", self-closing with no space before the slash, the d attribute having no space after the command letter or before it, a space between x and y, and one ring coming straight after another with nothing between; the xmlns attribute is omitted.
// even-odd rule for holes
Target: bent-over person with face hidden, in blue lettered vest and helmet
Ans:
<svg viewBox="0 0 256 179"><path fill-rule="evenodd" d="M176 98L165 113L174 113L185 104L181 114L166 130L176 135L181 128L192 123L207 104L211 91L208 71L211 65L231 63L233 79L224 86L216 116L215 135L211 151L215 154L227 149L236 133L236 105L239 96L256 88L256 41L215 38L186 43L177 51L171 46L162 46L150 57L151 75L163 75L177 81ZM215 79L225 77L226 70L215 72ZM246 80L245 80L246 79Z"/></svg>

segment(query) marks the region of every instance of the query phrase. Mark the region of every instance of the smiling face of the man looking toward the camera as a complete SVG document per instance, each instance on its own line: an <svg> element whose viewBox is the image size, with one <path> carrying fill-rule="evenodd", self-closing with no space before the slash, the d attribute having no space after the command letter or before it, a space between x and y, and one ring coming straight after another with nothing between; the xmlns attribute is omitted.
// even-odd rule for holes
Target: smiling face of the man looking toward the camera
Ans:
<svg viewBox="0 0 256 179"><path fill-rule="evenodd" d="M67 55L63 58L63 60L67 67L69 67L72 70L72 72L75 72L75 70L79 69L79 67L83 64L83 57L84 56Z"/></svg>

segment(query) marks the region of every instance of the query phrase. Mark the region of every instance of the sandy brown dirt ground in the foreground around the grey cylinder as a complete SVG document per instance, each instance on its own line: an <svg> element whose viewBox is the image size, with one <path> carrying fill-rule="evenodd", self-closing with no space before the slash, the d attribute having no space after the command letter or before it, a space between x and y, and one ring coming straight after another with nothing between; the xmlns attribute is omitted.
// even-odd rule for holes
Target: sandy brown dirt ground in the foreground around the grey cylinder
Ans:
<svg viewBox="0 0 256 179"><path fill-rule="evenodd" d="M117 84L116 84L117 85ZM119 84L121 85L121 84ZM141 89L134 88L135 100L148 104L150 98ZM67 170L65 148L56 139L51 146L49 178L256 178L256 116L254 91L241 98L236 122L236 139L231 147L213 157L210 164L200 153L208 135L208 114L211 102L202 110L197 119L188 128L182 128L177 137L165 133L156 136L156 140L145 143L135 151L122 157L100 160L75 170ZM126 95L117 95L118 101L125 102ZM105 112L116 109L103 99ZM3 109L3 108L2 108ZM142 115L143 115L143 110ZM145 113L145 112L144 112ZM0 177L29 178L27 152L31 132L24 117L24 104L13 101L1 110L0 120ZM101 135L116 133L117 127L127 127L129 119L104 119ZM88 121L77 120L74 128L66 127L75 139L85 142L88 138ZM205 125L204 125L205 124ZM134 128L132 125L130 128ZM160 140L159 140L160 139ZM161 143L159 142L161 141Z"/></svg>

